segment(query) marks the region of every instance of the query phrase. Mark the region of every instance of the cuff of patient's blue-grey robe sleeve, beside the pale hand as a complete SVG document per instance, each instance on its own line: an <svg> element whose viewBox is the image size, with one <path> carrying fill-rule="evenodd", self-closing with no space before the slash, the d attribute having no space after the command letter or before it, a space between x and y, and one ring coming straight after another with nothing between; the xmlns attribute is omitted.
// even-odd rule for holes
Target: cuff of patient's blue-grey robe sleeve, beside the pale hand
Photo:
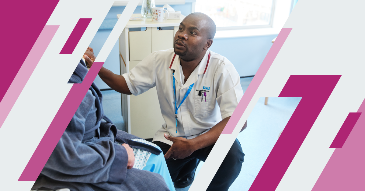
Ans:
<svg viewBox="0 0 365 191"><path fill-rule="evenodd" d="M108 182L122 184L127 176L128 154L126 148L115 143L115 158L109 172Z"/></svg>

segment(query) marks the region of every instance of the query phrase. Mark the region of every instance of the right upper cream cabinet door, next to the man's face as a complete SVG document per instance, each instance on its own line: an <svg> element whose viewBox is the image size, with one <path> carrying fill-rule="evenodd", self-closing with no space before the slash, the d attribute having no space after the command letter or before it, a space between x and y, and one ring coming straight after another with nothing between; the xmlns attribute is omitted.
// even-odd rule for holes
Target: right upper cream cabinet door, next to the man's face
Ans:
<svg viewBox="0 0 365 191"><path fill-rule="evenodd" d="M174 30L157 30L152 27L152 52L173 48Z"/></svg>

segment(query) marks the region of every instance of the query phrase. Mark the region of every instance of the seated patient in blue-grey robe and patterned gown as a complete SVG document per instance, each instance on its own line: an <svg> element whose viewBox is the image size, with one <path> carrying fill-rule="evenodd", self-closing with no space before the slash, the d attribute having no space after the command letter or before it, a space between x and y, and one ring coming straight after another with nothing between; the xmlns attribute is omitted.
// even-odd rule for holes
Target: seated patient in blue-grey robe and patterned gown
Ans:
<svg viewBox="0 0 365 191"><path fill-rule="evenodd" d="M69 83L81 83L87 72L81 60ZM92 83L32 190L174 191L160 148L117 130L102 100Z"/></svg>

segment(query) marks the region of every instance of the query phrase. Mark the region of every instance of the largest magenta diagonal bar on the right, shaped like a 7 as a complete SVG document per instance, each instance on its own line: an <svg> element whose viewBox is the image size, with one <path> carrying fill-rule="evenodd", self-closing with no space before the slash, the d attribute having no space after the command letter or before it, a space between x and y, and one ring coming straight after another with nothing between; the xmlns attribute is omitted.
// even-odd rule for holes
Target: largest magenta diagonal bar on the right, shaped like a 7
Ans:
<svg viewBox="0 0 365 191"><path fill-rule="evenodd" d="M274 191L341 75L291 75L279 97L302 97L249 191Z"/></svg>

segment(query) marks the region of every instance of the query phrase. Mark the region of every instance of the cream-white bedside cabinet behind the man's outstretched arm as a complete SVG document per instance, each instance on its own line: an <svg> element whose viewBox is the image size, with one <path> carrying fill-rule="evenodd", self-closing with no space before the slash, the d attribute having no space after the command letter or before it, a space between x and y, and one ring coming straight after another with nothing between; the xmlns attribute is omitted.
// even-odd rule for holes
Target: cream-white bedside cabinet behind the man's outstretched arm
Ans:
<svg viewBox="0 0 365 191"><path fill-rule="evenodd" d="M120 15L117 16L119 18ZM120 73L129 72L154 51L173 48L174 35L184 18L181 15L181 20L165 20L162 23L153 23L151 19L128 21L119 37ZM168 29L158 30L158 27ZM142 31L135 28L142 28ZM138 96L122 94L122 116L128 133L143 139L153 138L165 123L156 88Z"/></svg>

